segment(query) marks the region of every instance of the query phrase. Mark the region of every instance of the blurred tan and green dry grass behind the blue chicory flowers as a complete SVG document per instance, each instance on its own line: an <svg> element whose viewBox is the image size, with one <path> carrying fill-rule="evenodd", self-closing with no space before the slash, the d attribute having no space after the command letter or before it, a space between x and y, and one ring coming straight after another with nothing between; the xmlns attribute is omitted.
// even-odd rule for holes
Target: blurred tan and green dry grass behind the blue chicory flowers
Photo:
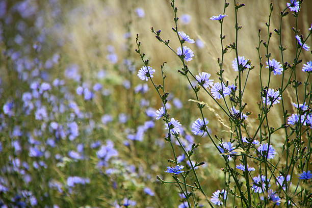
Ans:
<svg viewBox="0 0 312 208"><path fill-rule="evenodd" d="M14 8L18 1L8 1L7 8ZM2 18L3 38L0 48L2 51L8 51L10 48L18 50L24 47L25 44L16 44L14 37L21 35L24 38L24 42L32 42L33 35L44 34L46 40L41 44L42 50L40 53L28 54L32 58L39 57L41 60L50 59L54 53L60 55L60 62L53 68L46 69L40 68L42 71L48 71L53 78L64 78L65 69L76 64L79 66L79 72L81 73L82 80L88 81L92 84L100 80L100 83L104 88L111 90L112 94L109 97L97 96L93 100L93 103L86 103L83 99L77 99L77 103L84 111L92 112L94 119L99 119L103 114L112 114L113 117L117 117L120 112L135 114L135 120L131 120L127 123L128 127L135 128L142 124L145 120L145 113L141 111L139 106L139 100L145 98L150 101L150 106L154 109L158 109L161 106L160 99L153 91L152 86L149 85L150 90L147 94L134 95L133 92L129 92L122 87L124 79L131 79L133 86L142 84L138 79L136 73L141 68L142 63L138 59L138 55L135 53L135 37L136 34L140 35L140 41L142 42L142 50L147 57L150 57L150 66L156 70L155 81L161 82L160 65L163 62L167 62L165 66L165 73L168 76L166 80L166 89L173 95L173 97L179 98L184 108L179 110L175 107L169 110L169 113L174 118L178 119L186 128L188 134L190 132L191 123L198 118L199 112L194 110L196 104L188 101L188 99L194 99L194 94L189 90L185 77L180 76L177 70L181 68L179 60L171 51L153 36L150 32L150 27L155 30L162 30L162 37L164 39L170 39L170 45L175 49L178 47L176 35L172 32L173 27L173 12L170 7L169 1L100 1L100 0L69 0L69 1L49 1L49 3L42 1L29 1L30 5L36 6L35 14L27 19L24 19L18 15L12 15L10 24L5 23L5 18ZM261 39L267 40L267 28L265 22L268 21L269 5L271 1L242 1L245 7L239 11L239 24L242 25L242 30L239 32L239 55L245 56L246 59L251 60L252 65L255 68L250 72L248 84L246 86L245 98L243 102L248 102L246 111L252 112L249 116L249 128L253 129L257 126L257 114L259 112L257 102L260 100L259 86L259 63L258 55L255 47L258 45L257 32L261 29ZM281 61L280 52L278 49L278 36L274 33L274 29L279 27L279 12L284 9L285 1L272 1L274 4L273 18L271 20L271 32L273 36L270 42L270 53L272 58ZM223 34L226 35L224 43L230 44L235 42L235 19L234 9L232 8L233 1L229 1L230 6L226 10L228 15L224 19ZM177 1L178 15L188 14L191 17L189 23L183 23L179 21L179 30L186 32L192 39L200 39L203 43L203 47L198 47L196 44L191 45L191 49L195 53L193 61L189 63L190 70L197 74L204 71L212 74L212 79L217 81L216 72L219 71L217 64L217 58L221 57L221 45L220 45L220 24L217 21L212 21L209 17L218 15L223 12L223 1ZM135 10L136 8L142 8L145 11L143 18L138 17ZM8 10L9 10L8 9ZM298 28L303 35L307 34L307 29L310 27L312 13L312 2L304 1L303 7L298 19ZM38 17L38 18L37 18ZM44 24L41 27L32 28L33 25L39 24L39 17ZM39 19L39 20L38 20ZM24 31L24 33L16 32L16 27L20 21L26 22L30 30ZM292 62L294 59L294 51L296 46L296 40L292 27L294 27L294 18L290 13L283 19L283 45L287 46L287 50L284 53L284 60ZM40 24L39 24L40 25ZM307 44L311 45L309 40ZM114 54L117 55L117 61L112 63L107 59L107 55L110 54L108 46L114 46ZM262 56L265 54L265 48L261 49ZM310 54L304 51L302 53L302 63L309 61ZM228 51L225 54L224 59L224 77L230 84L236 78L231 67L232 60L235 58L235 53ZM135 74L129 75L128 71L123 64L124 59L133 60L135 63ZM265 59L265 58L264 58ZM2 54L2 63L6 62L6 56ZM12 62L10 62L12 63ZM297 67L298 71L301 71L302 63ZM263 61L263 64L265 62ZM3 93L3 101L5 98L15 96L16 90L23 90L24 85L17 83L14 79L17 78L17 74L10 71L10 64L1 64L1 77L3 79L4 89L8 89ZM264 68L265 69L265 68ZM100 70L106 71L105 79L98 79L97 73ZM265 70L264 70L265 71ZM288 73L287 73L288 74ZM246 73L244 74L245 79ZM298 80L305 80L306 74L298 73ZM263 79L266 80L268 73L263 73ZM243 80L244 80L243 79ZM285 77L285 80L288 76ZM271 82L271 88L277 88L280 85L281 77L273 77ZM67 82L67 87L74 94L77 83ZM303 90L302 87L299 90ZM134 99L127 98L129 94L136 96ZM290 97L294 97L293 92L289 92ZM200 94L200 100L209 103L218 115L223 119L224 115L220 109L212 102L212 100L204 93ZM130 102L129 102L130 101ZM170 101L171 102L171 101ZM132 105L130 104L132 103ZM134 108L132 111L131 108ZM281 123L282 114L281 106L274 107L275 111L270 112L270 122L272 126ZM291 103L286 103L286 108L292 111ZM212 112L208 108L204 109L205 117L210 120L209 127L211 128L212 135L218 134L219 137L223 137L224 140L229 138L228 129L224 127L218 120L218 115ZM225 123L228 123L226 119L223 119ZM32 122L32 120L30 121ZM80 125L85 125L88 120L81 121ZM86 188L83 193L79 192L76 196L70 194L56 194L57 197L53 201L65 204L61 207L77 207L76 205L91 205L96 206L100 204L102 207L110 207L113 199L122 200L125 196L133 195L137 200L138 207L177 207L178 195L173 186L161 185L155 180L156 175L161 175L167 180L170 180L170 176L164 174L165 167L168 166L167 159L172 159L172 154L169 145L165 143L163 148L155 145L155 142L163 141L163 123L157 121L156 128L147 132L144 142L136 142L128 147L124 147L123 141L126 134L125 129L127 126L120 125L117 122L113 122L109 125L102 125L101 129L93 132L91 137L82 137L81 141L88 143L91 140L107 140L111 139L115 143L115 147L119 151L119 157L121 160L113 162L113 166L120 166L122 169L121 174L109 177L107 175L98 174L97 170L92 169L96 165L95 152L90 151L90 155L93 154L91 160L85 162L80 161L75 164L70 164L70 168L61 169L55 164L51 165L52 170L55 173L44 173L46 175L51 174L51 177L66 175L74 175L84 173L90 177L90 188ZM256 123L253 125L253 123ZM283 141L283 131L279 131L275 141ZM4 138L4 136L2 137ZM203 181L202 186L205 188L208 194L211 194L216 189L222 189L220 183L223 183L223 172L220 170L224 164L217 154L216 150L209 142L207 137L196 137L197 143L203 144L197 150L194 157L194 161L205 161L207 167L199 170L200 178ZM89 143L90 143L89 142ZM276 143L276 149L281 147L282 143ZM70 142L64 142L60 149L67 151L69 148L73 148L75 144ZM134 165L135 172L130 173L125 166L125 163ZM283 163L281 163L283 165ZM122 167L122 168L121 168ZM43 175L44 175L43 174ZM117 188L114 183L117 183ZM37 185L33 185L33 190ZM143 194L142 188L150 187L155 191L155 198L148 197ZM115 187L115 188L114 188ZM40 193L38 193L40 195ZM199 196L201 196L198 193ZM65 199L62 199L62 197ZM66 202L64 202L64 200ZM61 205L61 204L60 204Z"/></svg>

